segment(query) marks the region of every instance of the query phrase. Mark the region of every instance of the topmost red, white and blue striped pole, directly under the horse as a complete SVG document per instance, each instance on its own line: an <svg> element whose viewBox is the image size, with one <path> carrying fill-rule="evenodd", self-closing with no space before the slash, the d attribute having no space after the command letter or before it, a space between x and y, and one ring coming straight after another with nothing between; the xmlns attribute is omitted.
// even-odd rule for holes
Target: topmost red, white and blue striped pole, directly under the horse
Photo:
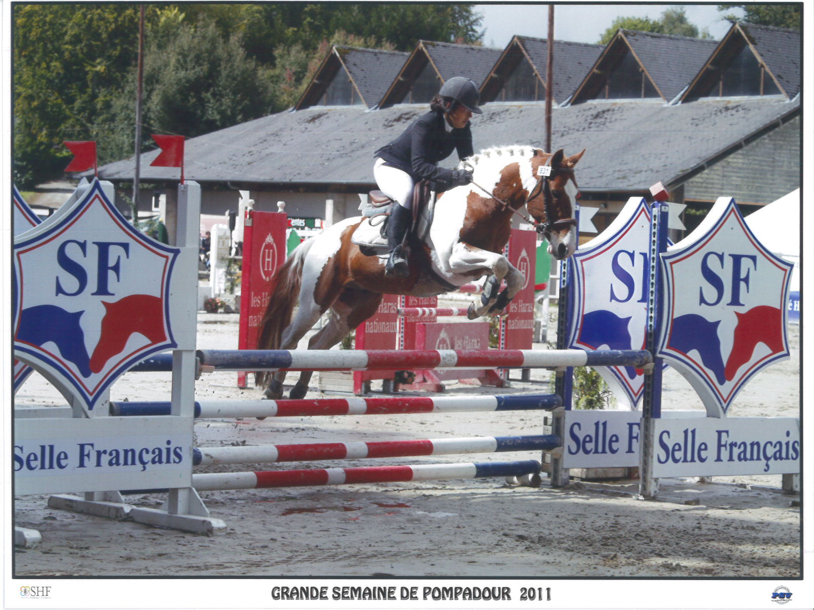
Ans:
<svg viewBox="0 0 814 610"><path fill-rule="evenodd" d="M392 371L498 366L634 366L652 362L646 349L199 349L204 371Z"/></svg>

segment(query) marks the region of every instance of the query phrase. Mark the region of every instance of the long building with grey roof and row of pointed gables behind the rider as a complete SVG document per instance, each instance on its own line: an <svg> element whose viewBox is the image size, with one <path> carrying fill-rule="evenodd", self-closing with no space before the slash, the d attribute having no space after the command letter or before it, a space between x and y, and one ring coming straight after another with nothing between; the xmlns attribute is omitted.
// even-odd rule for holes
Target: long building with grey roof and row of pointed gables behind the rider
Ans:
<svg viewBox="0 0 814 610"><path fill-rule="evenodd" d="M514 144L540 147L545 142L545 106L536 103L540 87L545 90L540 42L514 37L502 53L420 42L399 68L392 68L389 80L385 62L396 64L396 55L332 50L295 112L187 141L186 158L194 162L187 163L186 178L201 183L206 213L234 208L236 191L248 190L258 209L274 210L284 200L294 217L354 216L358 194L376 187L374 151L427 112L442 79L457 75L475 81L488 77L481 86L488 103L472 120L475 151ZM768 204L799 187L799 33L737 24L720 43L620 30L601 53L569 43L558 52L560 44L555 46L553 88L560 105L553 112L552 141L555 150L563 148L567 154L587 149L577 181L583 204L600 208L594 216L598 230L629 196L647 195L655 182L667 186L672 201L701 208L721 195L742 204ZM748 59L745 50L754 62L738 59ZM590 53L597 57L592 60ZM558 66L558 59L568 57L572 60L566 68ZM538 81L534 99L512 99L531 97L529 87L512 85L512 78L519 81L515 75L523 62ZM579 62L585 69L582 77L575 69L567 72ZM330 75L341 75L339 68L348 73L364 103L317 105L335 86ZM379 68L381 76L375 72ZM722 80L733 80L728 72L733 69L744 82L762 79L763 94L758 89L743 95L742 89L728 85L722 90ZM363 84L357 77L361 72L387 83L378 103L365 94L374 86ZM573 91L568 78L578 81ZM766 86L767 79L777 90ZM569 98L570 103L562 103ZM371 106L374 112L364 112ZM150 166L157 154L142 155L142 181L173 185L176 169ZM129 182L133 165L132 158L121 160L99 168L98 174ZM450 158L442 165L456 161Z"/></svg>

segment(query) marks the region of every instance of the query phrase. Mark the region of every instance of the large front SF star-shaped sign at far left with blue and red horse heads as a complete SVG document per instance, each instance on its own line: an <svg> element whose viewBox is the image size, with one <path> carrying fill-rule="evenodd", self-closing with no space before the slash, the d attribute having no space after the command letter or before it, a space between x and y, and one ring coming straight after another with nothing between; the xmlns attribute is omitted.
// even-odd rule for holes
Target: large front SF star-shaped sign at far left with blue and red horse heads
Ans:
<svg viewBox="0 0 814 610"><path fill-rule="evenodd" d="M15 240L15 358L92 409L121 372L177 347L168 292L179 252L129 226L94 182Z"/></svg>

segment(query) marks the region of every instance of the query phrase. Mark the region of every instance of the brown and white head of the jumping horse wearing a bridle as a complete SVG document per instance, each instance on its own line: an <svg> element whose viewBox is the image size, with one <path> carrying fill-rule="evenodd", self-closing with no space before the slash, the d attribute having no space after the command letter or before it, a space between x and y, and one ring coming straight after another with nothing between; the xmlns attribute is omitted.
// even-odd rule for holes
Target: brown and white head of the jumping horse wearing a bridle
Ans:
<svg viewBox="0 0 814 610"><path fill-rule="evenodd" d="M529 191L526 207L542 225L542 233L549 242L549 254L558 260L570 257L577 247L574 205L579 191L574 166L584 152L566 157L562 149L554 155L537 151L531 159L535 186ZM544 169L539 170L540 167ZM551 168L550 172L546 167ZM540 179L540 172L549 174Z"/></svg>

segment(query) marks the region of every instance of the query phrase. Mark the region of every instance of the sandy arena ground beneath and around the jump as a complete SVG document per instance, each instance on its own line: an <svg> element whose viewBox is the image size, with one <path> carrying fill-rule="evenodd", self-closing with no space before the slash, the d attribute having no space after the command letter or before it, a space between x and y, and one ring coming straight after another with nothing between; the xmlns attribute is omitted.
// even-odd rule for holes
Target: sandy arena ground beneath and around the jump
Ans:
<svg viewBox="0 0 814 610"><path fill-rule="evenodd" d="M198 329L199 348L237 346L236 314L199 314ZM730 415L799 416L797 327L790 327L790 344L792 358L752 380ZM535 374L540 380L548 375ZM290 374L287 383L294 380ZM495 393L463 384L448 389ZM513 382L500 392L545 389ZM166 373L127 374L112 387L114 401L169 396ZM689 384L672 370L664 376L663 396L664 409L702 409ZM240 390L236 374L220 373L204 375L196 397L249 398L260 392ZM17 403L64 404L36 374L18 393ZM542 426L542 415L524 411L200 419L195 435L201 446L253 445L539 434ZM399 463L529 457L450 455ZM385 463L371 459L343 465ZM278 466L327 465L336 464ZM566 489L552 489L545 480L532 489L502 479L204 492L212 516L228 527L225 535L212 538L52 510L46 496L27 496L15 501L15 523L37 529L42 543L16 550L14 569L18 577L798 577L799 498L779 493L780 486L780 476L720 477L711 484L662 480L660 501L635 499L637 483L572 482ZM160 494L128 498L146 507L163 500Z"/></svg>

